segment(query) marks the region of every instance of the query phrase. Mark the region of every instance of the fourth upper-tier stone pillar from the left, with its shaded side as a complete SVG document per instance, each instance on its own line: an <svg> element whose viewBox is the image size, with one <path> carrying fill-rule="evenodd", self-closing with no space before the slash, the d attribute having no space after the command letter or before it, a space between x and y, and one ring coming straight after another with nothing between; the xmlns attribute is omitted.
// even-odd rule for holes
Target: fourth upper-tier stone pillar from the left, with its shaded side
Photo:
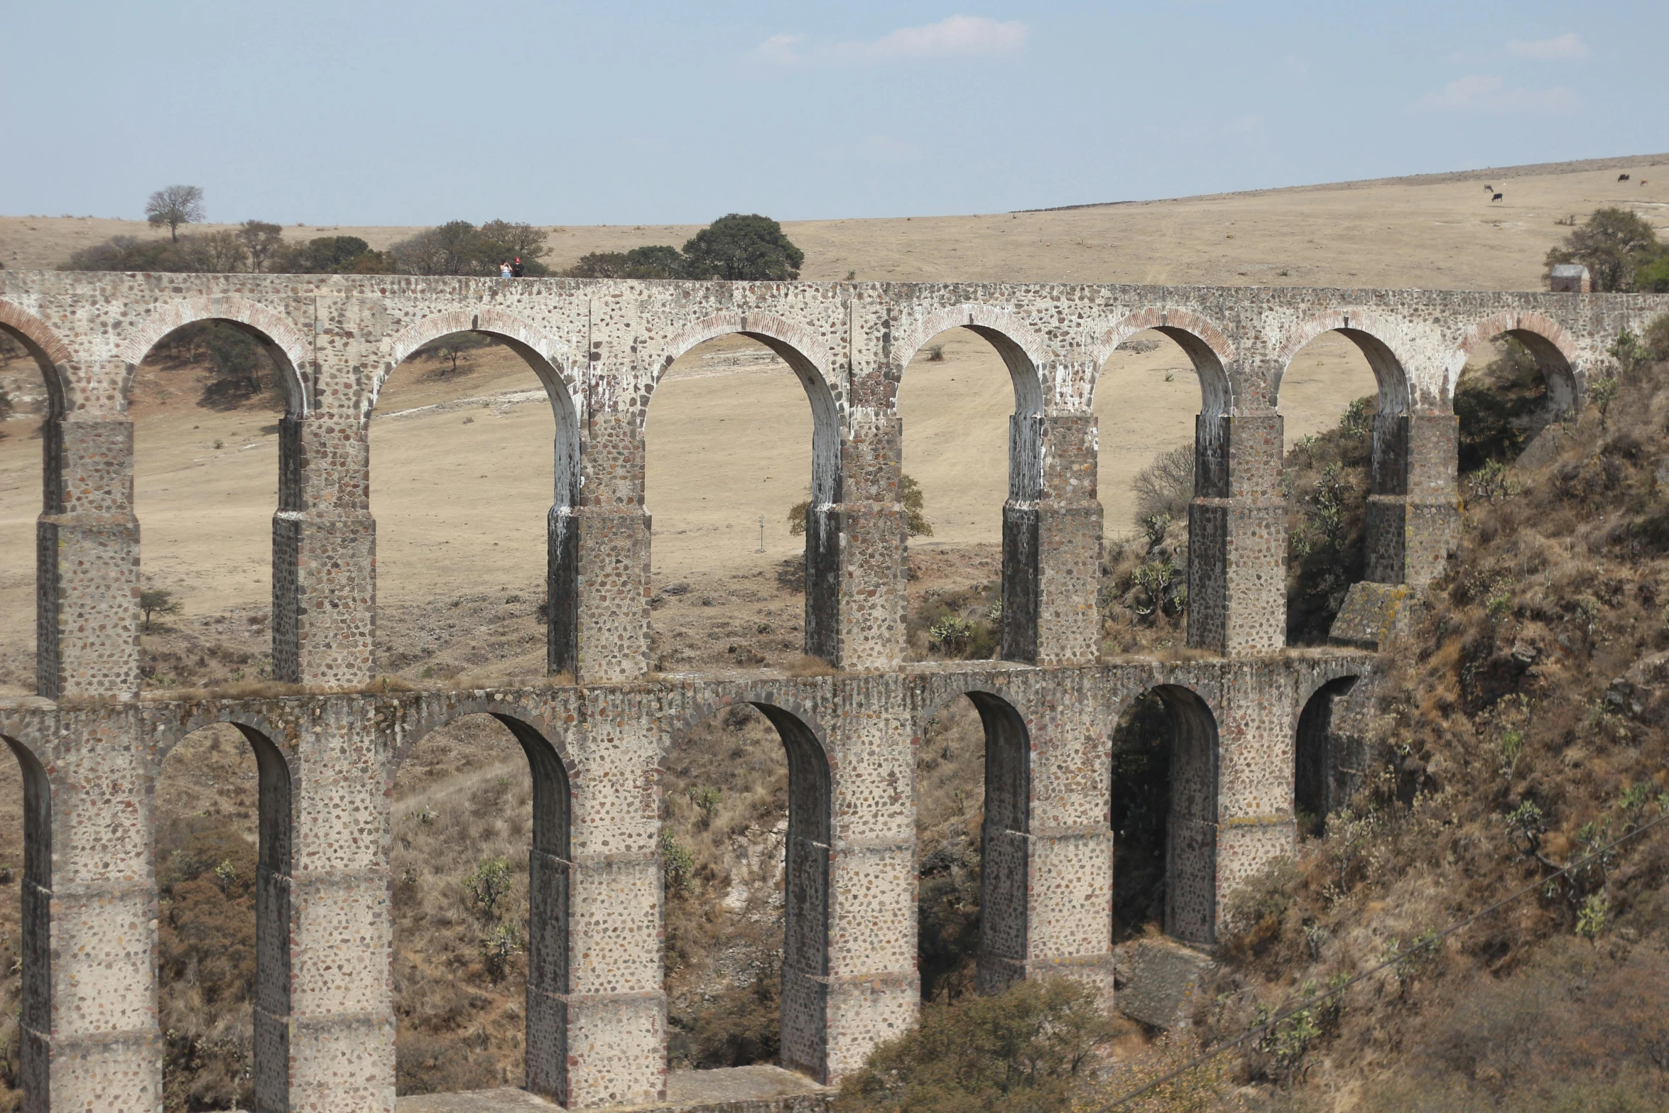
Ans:
<svg viewBox="0 0 1669 1113"><path fill-rule="evenodd" d="M905 659L903 422L855 407L841 442L840 501L806 519L806 652L843 669Z"/></svg>

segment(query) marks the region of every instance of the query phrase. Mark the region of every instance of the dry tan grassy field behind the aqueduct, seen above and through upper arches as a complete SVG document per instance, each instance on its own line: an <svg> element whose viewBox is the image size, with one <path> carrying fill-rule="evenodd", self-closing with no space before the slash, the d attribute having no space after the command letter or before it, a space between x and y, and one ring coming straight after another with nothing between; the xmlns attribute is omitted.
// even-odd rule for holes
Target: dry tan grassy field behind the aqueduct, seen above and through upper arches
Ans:
<svg viewBox="0 0 1669 1113"><path fill-rule="evenodd" d="M856 270L860 279L1534 289L1542 254L1564 234L1557 217L1617 202L1647 214L1669 207L1669 157L1659 159L1661 179L1649 169L1657 162L1636 162L1644 169L1632 184L1617 184L1612 167L1489 172L1001 217L803 222L788 232L806 249L814 279ZM1500 204L1480 197L1485 180L1507 194ZM147 232L139 224L0 217L0 259L8 267L43 265L118 230ZM552 242L562 264L582 250L681 242L691 230L567 229ZM352 232L386 245L409 230L290 232ZM1277 264L1290 274L1277 274ZM1013 389L996 352L976 335L956 329L935 342L943 360L916 357L900 409L905 469L921 482L933 522L933 536L913 544L951 554L1000 541ZM25 400L42 394L27 360L0 365L0 382ZM1360 354L1342 337L1319 337L1282 390L1288 442L1332 424L1372 390ZM142 574L147 586L179 594L180 621L259 611L270 597L277 412L259 404L204 407L200 392L195 369L147 360L132 402ZM1108 360L1095 397L1108 537L1135 532L1130 481L1157 452L1192 439L1198 399L1187 357L1165 337L1132 337ZM33 684L35 424L20 415L0 439L0 692ZM482 611L486 621L504 607L531 612L537 604L551 436L537 379L504 347L474 350L456 374L416 359L391 379L371 431L391 666L467 671L487 662L491 646L514 647L504 669L537 671L537 644L524 644L522 632L492 634L492 622L477 622L487 632L476 634L456 614L427 611L474 601L471 609L491 611ZM799 597L776 586L783 561L801 552L788 511L806 497L811 477L811 415L793 372L753 340L704 344L663 380L648 442L653 572L664 604L656 609L658 664L744 664L749 652L774 657L783 644L798 644ZM511 596L517 602L504 602Z"/></svg>

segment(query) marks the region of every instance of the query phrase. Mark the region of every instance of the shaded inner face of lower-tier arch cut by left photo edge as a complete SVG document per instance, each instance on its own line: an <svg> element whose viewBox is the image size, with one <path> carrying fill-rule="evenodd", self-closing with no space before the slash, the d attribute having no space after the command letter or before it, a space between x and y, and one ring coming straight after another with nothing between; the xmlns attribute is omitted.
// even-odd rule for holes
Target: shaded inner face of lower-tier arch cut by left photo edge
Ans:
<svg viewBox="0 0 1669 1113"><path fill-rule="evenodd" d="M23 741L0 734L23 779L23 878L20 884L22 1003L18 1058L25 1108L48 1108L52 1068L52 778Z"/></svg>

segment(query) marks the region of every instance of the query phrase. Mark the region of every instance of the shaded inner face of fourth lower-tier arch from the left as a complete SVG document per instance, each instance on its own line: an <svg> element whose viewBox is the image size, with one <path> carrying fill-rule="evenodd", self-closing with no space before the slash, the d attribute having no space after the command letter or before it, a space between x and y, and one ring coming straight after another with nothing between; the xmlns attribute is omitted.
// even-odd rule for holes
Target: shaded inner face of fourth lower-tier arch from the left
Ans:
<svg viewBox="0 0 1669 1113"><path fill-rule="evenodd" d="M659 766L671 758L673 739L709 714L746 703L776 728L788 754L788 843L783 901L783 1020L781 1063L828 1080L826 998L829 975L829 858L833 831L833 763L828 734L791 699L771 689L743 689L704 701L666 736Z"/></svg>

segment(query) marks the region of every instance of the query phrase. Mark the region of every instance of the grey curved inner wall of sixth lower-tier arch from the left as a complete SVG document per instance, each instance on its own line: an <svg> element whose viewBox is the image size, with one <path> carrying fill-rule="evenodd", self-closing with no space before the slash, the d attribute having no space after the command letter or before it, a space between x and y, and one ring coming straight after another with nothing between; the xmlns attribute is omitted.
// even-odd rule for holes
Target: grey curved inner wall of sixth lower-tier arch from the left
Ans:
<svg viewBox="0 0 1669 1113"><path fill-rule="evenodd" d="M1123 723L1150 692L1163 704L1170 731L1165 933L1183 943L1212 946L1217 943L1218 716L1193 687L1162 682L1120 701L1115 723ZM1117 783L1112 793L1117 803Z"/></svg>

